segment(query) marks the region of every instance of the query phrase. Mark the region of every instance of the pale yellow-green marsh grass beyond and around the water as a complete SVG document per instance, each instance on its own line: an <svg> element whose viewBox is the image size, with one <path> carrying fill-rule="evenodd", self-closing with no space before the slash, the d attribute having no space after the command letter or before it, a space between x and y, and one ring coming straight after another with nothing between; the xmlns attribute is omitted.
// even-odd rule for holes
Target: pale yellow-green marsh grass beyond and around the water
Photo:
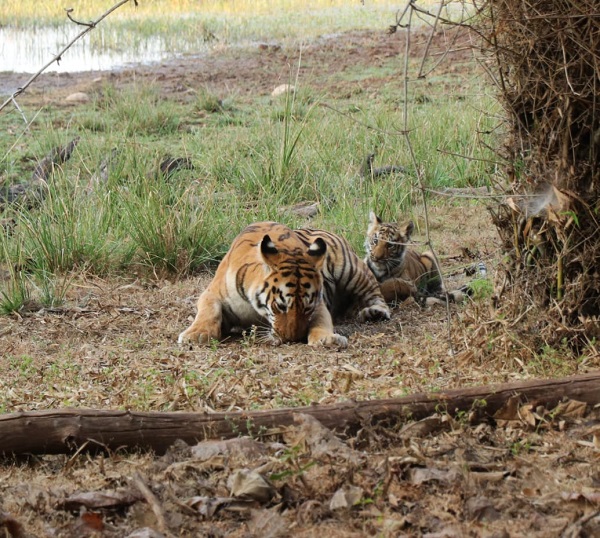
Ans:
<svg viewBox="0 0 600 538"><path fill-rule="evenodd" d="M15 28L62 26L74 19L94 20L117 0L4 0L0 20ZM433 2L420 2L427 6ZM92 46L128 47L143 52L149 37L166 50L198 52L208 44L257 40L305 40L324 33L356 28L385 28L398 3L391 0L139 0L120 7L90 35Z"/></svg>

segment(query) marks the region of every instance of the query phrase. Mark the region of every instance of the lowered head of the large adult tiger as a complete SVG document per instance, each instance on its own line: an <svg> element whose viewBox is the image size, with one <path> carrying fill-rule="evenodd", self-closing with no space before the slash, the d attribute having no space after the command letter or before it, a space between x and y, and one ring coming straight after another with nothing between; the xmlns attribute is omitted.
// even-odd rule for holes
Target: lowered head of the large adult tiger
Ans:
<svg viewBox="0 0 600 538"><path fill-rule="evenodd" d="M268 235L260 243L270 273L256 294L255 308L269 320L273 343L306 340L310 321L323 300L327 244L317 238L305 246L276 245Z"/></svg>

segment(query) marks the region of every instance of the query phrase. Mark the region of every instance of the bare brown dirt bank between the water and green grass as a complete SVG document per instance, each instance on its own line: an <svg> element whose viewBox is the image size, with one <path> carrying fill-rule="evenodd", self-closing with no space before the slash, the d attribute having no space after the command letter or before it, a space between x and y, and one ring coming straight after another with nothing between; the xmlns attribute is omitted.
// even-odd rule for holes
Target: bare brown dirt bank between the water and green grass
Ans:
<svg viewBox="0 0 600 538"><path fill-rule="evenodd" d="M420 59L428 33L413 35L411 56ZM439 67L440 74L459 72L471 62L469 36L454 31L439 32L432 54L452 48L448 61ZM399 58L404 50L403 34L388 36L384 32L352 32L327 36L302 46L259 43L250 47L223 48L197 57L173 59L166 63L140 65L112 72L42 74L19 100L26 104L60 103L67 95L94 91L104 83L117 87L152 83L161 88L165 98L188 99L190 89L206 87L217 95L234 93L237 98L269 95L280 84L289 83L296 75L303 83L318 91L336 95L359 90L375 91L385 84L398 84L403 68ZM357 85L348 73L358 73L374 66L391 64L389 77L360 77ZM0 73L0 92L9 94L28 76Z"/></svg>

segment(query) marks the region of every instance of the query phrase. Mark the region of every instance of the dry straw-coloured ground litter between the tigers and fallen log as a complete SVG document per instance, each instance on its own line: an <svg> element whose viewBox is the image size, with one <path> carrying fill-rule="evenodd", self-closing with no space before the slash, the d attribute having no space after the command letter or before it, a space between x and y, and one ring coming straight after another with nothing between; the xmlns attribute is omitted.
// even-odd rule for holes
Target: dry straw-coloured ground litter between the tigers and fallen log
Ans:
<svg viewBox="0 0 600 538"><path fill-rule="evenodd" d="M456 238L452 215L490 230L485 244ZM485 223L485 224L484 224ZM440 205L432 224L457 286L472 263L462 248L493 267L494 232L479 204ZM442 239L446 237L447 239ZM59 406L203 410L306 405L345 398L386 398L512 378L458 367L448 355L445 308L404 303L392 321L341 325L345 351L323 354L304 345L265 347L252 335L214 348L179 347L177 334L194 314L208 277L176 282L102 281L75 277L64 307L2 318L0 404L5 410ZM453 305L453 311L462 307ZM459 335L454 336L461 347ZM513 370L514 373L514 370ZM517 377L518 373L515 374ZM521 375L527 375L521 372ZM40 391L40 386L46 387Z"/></svg>

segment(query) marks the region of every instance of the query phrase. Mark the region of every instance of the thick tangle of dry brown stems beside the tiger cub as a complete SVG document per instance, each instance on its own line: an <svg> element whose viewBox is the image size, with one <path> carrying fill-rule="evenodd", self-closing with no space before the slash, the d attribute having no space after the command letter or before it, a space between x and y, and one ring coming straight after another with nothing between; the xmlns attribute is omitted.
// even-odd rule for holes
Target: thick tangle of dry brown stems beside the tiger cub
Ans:
<svg viewBox="0 0 600 538"><path fill-rule="evenodd" d="M473 25L506 109L497 306L538 348L600 334L597 0L492 0Z"/></svg>

